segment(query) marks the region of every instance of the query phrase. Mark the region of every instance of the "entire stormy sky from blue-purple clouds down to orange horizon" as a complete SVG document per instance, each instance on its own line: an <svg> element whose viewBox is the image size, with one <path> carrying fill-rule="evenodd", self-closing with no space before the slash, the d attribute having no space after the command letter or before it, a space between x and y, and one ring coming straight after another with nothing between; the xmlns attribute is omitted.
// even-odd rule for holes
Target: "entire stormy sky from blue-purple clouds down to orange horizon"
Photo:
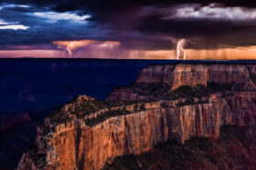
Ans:
<svg viewBox="0 0 256 170"><path fill-rule="evenodd" d="M256 3L178 2L0 1L0 57L256 58Z"/></svg>

